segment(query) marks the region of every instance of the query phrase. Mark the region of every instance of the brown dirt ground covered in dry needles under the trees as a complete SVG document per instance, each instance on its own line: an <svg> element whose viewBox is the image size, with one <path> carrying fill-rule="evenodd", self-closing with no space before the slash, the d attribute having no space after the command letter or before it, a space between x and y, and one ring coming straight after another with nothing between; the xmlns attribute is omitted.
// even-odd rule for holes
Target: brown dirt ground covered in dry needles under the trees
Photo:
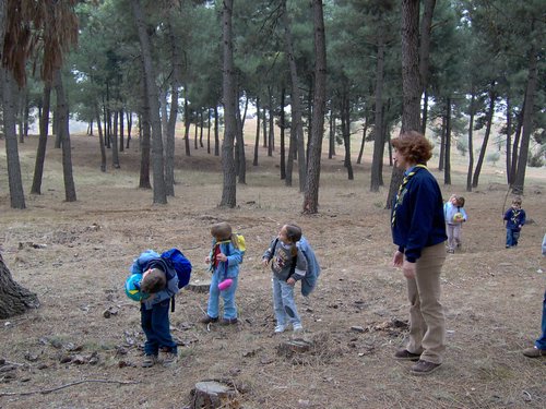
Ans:
<svg viewBox="0 0 546 409"><path fill-rule="evenodd" d="M36 142L20 147L25 192ZM13 210L0 140L0 250L13 278L41 302L0 321L0 408L186 408L195 383L205 380L237 388L226 408L546 407L546 360L521 353L538 336L546 284L544 169L527 170L523 208L531 220L520 245L506 250L501 214L510 196L505 202L501 165L486 164L479 188L468 193L466 158L453 160L453 185L442 185L443 195L463 194L470 220L462 251L449 255L443 269L446 362L417 377L410 363L392 359L407 337L408 303L405 280L390 265L385 189L369 192L369 156L355 165L354 181L341 156L324 158L320 214L302 216L297 188L278 178L276 154L268 158L261 148L260 166L249 160L247 185L237 187L238 207L219 209L219 158L203 148L188 158L182 141L176 196L153 205L152 192L138 189L136 141L120 153L121 169L108 157L102 173L97 139L72 135L78 202L66 203L61 153L50 142L43 194L27 194L27 208ZM434 159L441 181L436 167ZM390 172L385 166L385 182ZM140 313L123 292L133 258L145 249L177 246L193 263L193 280L203 281L209 229L217 220L247 240L239 324L200 324L207 293L182 290L170 316L178 364L142 369ZM302 227L323 269L316 291L298 294L306 329L299 337L311 348L293 356L278 348L292 334L273 335L271 273L260 264L288 221Z"/></svg>

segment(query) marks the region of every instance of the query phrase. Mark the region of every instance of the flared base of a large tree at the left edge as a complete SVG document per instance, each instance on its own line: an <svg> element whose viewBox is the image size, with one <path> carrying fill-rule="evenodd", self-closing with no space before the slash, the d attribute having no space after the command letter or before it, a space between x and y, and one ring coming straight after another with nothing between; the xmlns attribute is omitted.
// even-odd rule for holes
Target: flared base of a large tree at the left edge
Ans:
<svg viewBox="0 0 546 409"><path fill-rule="evenodd" d="M13 280L0 254L0 320L23 314L28 309L38 306L38 297Z"/></svg>

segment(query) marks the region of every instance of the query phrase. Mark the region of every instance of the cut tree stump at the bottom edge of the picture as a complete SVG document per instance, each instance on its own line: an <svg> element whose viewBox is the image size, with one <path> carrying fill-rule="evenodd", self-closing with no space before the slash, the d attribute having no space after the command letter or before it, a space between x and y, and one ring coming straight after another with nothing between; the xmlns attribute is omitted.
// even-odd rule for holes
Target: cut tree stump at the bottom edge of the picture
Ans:
<svg viewBox="0 0 546 409"><path fill-rule="evenodd" d="M237 390L219 381L203 381L192 390L191 409L239 408Z"/></svg>

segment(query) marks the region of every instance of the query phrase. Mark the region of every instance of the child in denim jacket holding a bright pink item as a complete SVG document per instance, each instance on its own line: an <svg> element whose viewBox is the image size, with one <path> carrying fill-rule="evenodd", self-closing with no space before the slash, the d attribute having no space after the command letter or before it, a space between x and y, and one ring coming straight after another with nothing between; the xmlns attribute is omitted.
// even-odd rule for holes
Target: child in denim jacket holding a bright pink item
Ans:
<svg viewBox="0 0 546 409"><path fill-rule="evenodd" d="M235 291L237 290L239 265L242 263L245 250L240 249L239 236L233 233L232 226L225 221L212 226L211 236L213 237L212 249L205 258L205 263L211 265L212 279L209 289L206 316L201 322L209 324L218 321L218 303L219 296L222 296L224 299L222 324L237 324Z"/></svg>

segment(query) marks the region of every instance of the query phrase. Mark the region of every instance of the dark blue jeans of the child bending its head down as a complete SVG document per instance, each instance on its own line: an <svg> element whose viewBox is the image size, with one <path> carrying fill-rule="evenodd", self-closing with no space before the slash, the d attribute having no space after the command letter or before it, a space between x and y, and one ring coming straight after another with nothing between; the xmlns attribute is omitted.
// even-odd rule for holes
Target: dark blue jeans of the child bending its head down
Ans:
<svg viewBox="0 0 546 409"><path fill-rule="evenodd" d="M140 308L141 325L146 335L144 353L147 356L157 356L159 348L177 353L177 344L170 336L169 305L170 299L154 304L151 310L146 310L144 304Z"/></svg>

